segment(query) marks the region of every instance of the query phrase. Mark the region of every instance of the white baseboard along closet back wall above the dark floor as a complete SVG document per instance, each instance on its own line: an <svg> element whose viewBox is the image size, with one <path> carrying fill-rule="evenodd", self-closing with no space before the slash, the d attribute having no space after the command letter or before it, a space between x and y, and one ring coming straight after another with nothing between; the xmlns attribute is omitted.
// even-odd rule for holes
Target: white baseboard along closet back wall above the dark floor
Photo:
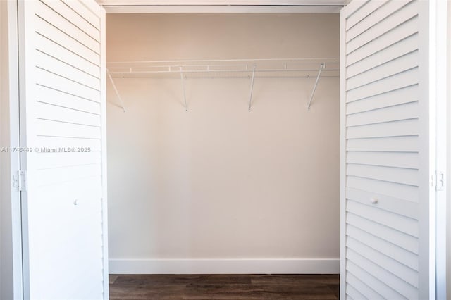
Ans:
<svg viewBox="0 0 451 300"><path fill-rule="evenodd" d="M110 274L338 274L339 258L110 259Z"/></svg>

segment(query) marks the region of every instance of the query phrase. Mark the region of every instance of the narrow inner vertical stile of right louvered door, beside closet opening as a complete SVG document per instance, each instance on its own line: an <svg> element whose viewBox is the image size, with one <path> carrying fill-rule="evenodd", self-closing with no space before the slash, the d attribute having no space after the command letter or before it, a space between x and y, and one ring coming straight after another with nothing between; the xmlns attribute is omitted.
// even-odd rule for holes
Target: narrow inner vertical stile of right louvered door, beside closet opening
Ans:
<svg viewBox="0 0 451 300"><path fill-rule="evenodd" d="M346 299L346 8L340 11L340 299Z"/></svg>

